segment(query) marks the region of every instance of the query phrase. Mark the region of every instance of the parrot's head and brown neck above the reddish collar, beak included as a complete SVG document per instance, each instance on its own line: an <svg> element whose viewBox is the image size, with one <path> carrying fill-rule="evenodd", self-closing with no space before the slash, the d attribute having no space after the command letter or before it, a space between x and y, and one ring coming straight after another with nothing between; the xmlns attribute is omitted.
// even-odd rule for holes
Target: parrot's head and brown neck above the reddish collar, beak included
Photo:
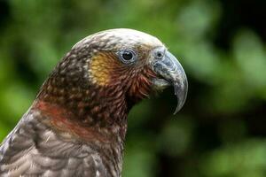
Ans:
<svg viewBox="0 0 266 177"><path fill-rule="evenodd" d="M133 104L168 86L174 87L179 111L187 85L184 69L160 40L121 28L77 42L43 84L37 100L58 106L56 112L71 112L67 115L80 118L82 124L105 127L123 121Z"/></svg>

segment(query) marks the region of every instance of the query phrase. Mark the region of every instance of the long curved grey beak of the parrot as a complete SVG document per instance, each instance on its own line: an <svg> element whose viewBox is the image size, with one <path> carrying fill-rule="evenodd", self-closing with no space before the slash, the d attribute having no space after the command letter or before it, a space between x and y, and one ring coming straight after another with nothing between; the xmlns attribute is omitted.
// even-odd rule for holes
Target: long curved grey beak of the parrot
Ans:
<svg viewBox="0 0 266 177"><path fill-rule="evenodd" d="M176 114L183 107L188 90L188 81L184 69L169 51L165 51L165 55L162 58L154 58L152 65L153 72L159 77L153 80L155 89L164 89L170 85L174 86L177 97L177 106L174 112Z"/></svg>

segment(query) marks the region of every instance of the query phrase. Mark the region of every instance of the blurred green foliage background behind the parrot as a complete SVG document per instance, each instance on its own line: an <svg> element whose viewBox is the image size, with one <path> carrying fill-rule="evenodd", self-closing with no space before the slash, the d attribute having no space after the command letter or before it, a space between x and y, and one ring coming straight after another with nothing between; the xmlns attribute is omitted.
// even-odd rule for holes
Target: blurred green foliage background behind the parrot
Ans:
<svg viewBox="0 0 266 177"><path fill-rule="evenodd" d="M124 177L266 176L266 1L0 0L0 141L68 50L115 27L155 35L189 79L129 114Z"/></svg>

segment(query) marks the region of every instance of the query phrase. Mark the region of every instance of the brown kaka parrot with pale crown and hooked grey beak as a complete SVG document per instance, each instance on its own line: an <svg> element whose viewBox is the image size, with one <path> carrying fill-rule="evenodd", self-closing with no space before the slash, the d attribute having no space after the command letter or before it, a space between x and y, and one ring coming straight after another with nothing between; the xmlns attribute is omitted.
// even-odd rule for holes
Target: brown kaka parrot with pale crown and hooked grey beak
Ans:
<svg viewBox="0 0 266 177"><path fill-rule="evenodd" d="M77 42L0 147L0 176L121 176L130 108L187 79L157 38L110 29Z"/></svg>

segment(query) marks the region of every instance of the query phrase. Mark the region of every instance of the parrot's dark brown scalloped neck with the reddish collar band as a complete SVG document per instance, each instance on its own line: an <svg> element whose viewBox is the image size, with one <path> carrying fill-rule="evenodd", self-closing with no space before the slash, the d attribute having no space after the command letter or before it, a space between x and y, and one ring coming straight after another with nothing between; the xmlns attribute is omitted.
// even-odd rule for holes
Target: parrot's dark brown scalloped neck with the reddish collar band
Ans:
<svg viewBox="0 0 266 177"><path fill-rule="evenodd" d="M56 78L43 85L33 109L51 119L53 127L74 133L86 141L124 141L129 112L124 89L113 87L60 87ZM117 141L120 141L117 139Z"/></svg>

